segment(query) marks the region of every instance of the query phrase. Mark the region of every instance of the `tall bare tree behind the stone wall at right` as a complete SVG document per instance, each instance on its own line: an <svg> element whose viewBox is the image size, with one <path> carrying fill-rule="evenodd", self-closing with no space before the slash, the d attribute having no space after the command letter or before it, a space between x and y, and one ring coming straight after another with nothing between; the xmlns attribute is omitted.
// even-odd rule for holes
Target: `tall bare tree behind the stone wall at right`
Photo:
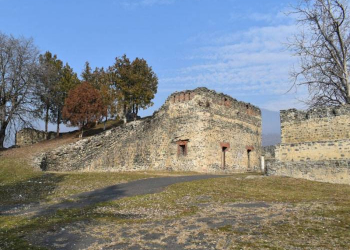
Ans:
<svg viewBox="0 0 350 250"><path fill-rule="evenodd" d="M300 28L289 44L300 58L294 84L308 87L311 107L350 104L348 2L301 0L292 14Z"/></svg>

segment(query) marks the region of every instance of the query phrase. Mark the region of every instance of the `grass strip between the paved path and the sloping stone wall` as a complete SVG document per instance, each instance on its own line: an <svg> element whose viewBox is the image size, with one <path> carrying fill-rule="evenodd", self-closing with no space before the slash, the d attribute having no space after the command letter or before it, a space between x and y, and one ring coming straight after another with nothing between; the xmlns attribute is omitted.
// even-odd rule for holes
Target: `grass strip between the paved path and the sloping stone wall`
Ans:
<svg viewBox="0 0 350 250"><path fill-rule="evenodd" d="M58 202L81 192L156 176L142 172L42 172L33 169L25 160L2 158L0 205Z"/></svg>

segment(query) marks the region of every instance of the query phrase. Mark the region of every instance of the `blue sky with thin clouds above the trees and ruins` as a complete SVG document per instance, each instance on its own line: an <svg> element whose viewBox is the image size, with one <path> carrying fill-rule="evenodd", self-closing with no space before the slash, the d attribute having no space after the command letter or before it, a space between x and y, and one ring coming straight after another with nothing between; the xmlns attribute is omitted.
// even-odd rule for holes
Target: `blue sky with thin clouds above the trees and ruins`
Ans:
<svg viewBox="0 0 350 250"><path fill-rule="evenodd" d="M32 37L80 75L84 63L144 58L159 78L151 115L174 91L207 87L260 108L303 108L292 88L296 0L0 0L0 32Z"/></svg>

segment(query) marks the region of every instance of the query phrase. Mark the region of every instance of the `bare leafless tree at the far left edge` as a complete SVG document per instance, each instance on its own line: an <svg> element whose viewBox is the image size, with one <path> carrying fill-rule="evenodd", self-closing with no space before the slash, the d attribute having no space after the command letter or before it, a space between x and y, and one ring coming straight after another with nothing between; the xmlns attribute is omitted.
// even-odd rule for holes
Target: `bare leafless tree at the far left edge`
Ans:
<svg viewBox="0 0 350 250"><path fill-rule="evenodd" d="M38 50L31 39L0 33L0 149L9 127L30 120L37 63Z"/></svg>

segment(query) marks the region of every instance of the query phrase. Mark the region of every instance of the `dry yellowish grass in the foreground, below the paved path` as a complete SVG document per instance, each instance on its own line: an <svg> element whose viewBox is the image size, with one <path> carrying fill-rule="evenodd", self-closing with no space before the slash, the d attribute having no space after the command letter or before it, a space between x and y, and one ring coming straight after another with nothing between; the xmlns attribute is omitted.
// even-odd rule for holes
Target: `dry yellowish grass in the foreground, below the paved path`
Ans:
<svg viewBox="0 0 350 250"><path fill-rule="evenodd" d="M164 238L181 231L183 242L191 235L205 234L196 242L217 242L216 249L347 249L349 193L347 185L235 174L179 183L161 193L62 210L51 216L1 218L0 232L3 239L6 236L6 241L16 245L24 244L24 235L36 239L43 231L53 230L54 234L55 228L74 228L82 223L95 231L96 237L112 239L116 244L122 240L133 244L132 238L119 234L125 228L134 237L142 237L148 228L150 232L162 232ZM236 206L257 202L268 207ZM254 222L255 217L258 219ZM209 226L203 224L203 219L227 223ZM96 249L103 246L97 245ZM192 247L196 249L196 245Z"/></svg>

